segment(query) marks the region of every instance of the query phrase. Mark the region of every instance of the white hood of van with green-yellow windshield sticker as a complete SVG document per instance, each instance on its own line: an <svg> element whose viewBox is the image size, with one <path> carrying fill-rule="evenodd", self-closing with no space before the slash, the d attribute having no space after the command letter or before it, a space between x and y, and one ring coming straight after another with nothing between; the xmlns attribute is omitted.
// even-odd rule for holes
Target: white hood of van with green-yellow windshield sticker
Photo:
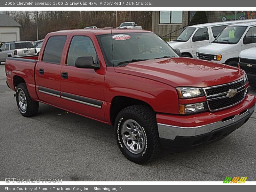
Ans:
<svg viewBox="0 0 256 192"><path fill-rule="evenodd" d="M241 50L241 46L239 47L236 44L210 43L202 47L199 47L196 51L205 54L221 54L239 50Z"/></svg>

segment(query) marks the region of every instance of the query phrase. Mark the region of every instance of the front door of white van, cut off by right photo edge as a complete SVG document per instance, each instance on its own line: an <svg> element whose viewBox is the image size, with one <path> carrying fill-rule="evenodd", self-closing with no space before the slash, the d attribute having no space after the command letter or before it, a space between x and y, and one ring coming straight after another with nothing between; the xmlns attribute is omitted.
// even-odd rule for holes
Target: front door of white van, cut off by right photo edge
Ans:
<svg viewBox="0 0 256 192"><path fill-rule="evenodd" d="M242 50L256 46L256 26L249 28L242 39Z"/></svg>

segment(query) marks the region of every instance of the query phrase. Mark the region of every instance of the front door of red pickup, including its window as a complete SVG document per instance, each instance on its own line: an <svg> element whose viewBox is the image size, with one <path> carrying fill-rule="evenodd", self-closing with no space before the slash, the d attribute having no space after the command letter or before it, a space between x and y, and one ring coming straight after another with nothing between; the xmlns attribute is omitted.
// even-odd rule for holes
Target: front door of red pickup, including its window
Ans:
<svg viewBox="0 0 256 192"><path fill-rule="evenodd" d="M96 42L94 35L72 36L65 63L61 68L61 98L63 108L105 121L103 111L105 69L75 67L76 59L82 56L92 57L94 63L99 65L98 54L94 47Z"/></svg>

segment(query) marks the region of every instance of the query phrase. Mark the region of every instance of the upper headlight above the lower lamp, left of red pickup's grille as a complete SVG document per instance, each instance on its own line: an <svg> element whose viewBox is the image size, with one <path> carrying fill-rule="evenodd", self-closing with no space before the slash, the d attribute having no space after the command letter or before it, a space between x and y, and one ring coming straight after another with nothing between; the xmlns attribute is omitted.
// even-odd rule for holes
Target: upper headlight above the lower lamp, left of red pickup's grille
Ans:
<svg viewBox="0 0 256 192"><path fill-rule="evenodd" d="M176 90L180 99L204 96L203 90L197 87L177 87Z"/></svg>

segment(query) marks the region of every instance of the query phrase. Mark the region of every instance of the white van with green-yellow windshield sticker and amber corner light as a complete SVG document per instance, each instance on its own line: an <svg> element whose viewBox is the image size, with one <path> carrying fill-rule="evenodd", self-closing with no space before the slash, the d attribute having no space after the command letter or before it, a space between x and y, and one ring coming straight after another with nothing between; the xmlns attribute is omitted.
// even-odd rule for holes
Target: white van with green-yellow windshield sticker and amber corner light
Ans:
<svg viewBox="0 0 256 192"><path fill-rule="evenodd" d="M256 20L229 25L216 39L197 49L197 58L237 66L238 55L256 46Z"/></svg>

